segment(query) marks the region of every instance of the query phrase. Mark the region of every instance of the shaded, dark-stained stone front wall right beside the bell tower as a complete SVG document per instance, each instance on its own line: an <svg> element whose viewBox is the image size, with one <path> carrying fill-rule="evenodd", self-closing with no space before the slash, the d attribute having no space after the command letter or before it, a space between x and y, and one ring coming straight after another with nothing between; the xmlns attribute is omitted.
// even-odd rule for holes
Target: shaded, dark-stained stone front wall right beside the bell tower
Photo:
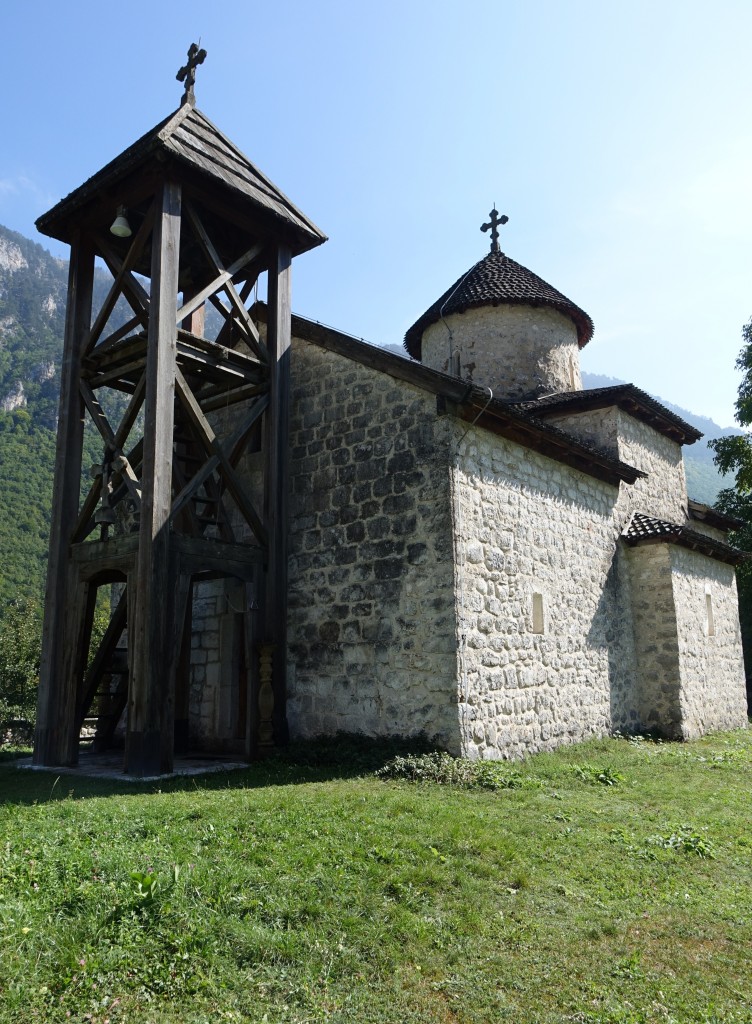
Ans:
<svg viewBox="0 0 752 1024"><path fill-rule="evenodd" d="M449 418L298 340L292 380L291 734L422 732L457 752Z"/></svg>

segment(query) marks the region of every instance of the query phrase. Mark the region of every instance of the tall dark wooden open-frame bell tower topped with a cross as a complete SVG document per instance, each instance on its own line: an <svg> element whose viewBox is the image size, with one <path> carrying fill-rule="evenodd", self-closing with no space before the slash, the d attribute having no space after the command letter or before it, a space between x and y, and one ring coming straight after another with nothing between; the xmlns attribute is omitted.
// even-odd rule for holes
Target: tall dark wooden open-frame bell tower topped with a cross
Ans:
<svg viewBox="0 0 752 1024"><path fill-rule="evenodd" d="M228 577L247 594L245 753L286 738L291 261L326 238L196 108L205 55L189 51L174 114L37 222L71 246L40 765L77 763L99 701L95 742L124 720L126 773L171 771L187 721L192 591ZM96 257L113 283L92 315ZM262 336L250 304L264 272ZM115 326L121 297L130 313ZM84 483L87 418L103 455ZM249 447L255 485L238 469ZM121 596L89 655L97 588L115 582Z"/></svg>

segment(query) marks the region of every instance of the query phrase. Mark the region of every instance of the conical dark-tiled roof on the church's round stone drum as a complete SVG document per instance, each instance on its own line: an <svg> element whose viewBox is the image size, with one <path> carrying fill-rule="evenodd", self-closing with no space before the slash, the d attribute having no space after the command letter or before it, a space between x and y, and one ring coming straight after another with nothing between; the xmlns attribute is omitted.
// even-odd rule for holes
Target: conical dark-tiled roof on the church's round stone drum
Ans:
<svg viewBox="0 0 752 1024"><path fill-rule="evenodd" d="M593 336L593 322L588 314L555 288L527 267L515 263L502 252L490 252L479 260L430 308L426 309L405 335L405 347L414 359L421 357L423 332L449 313L461 313L474 306L516 304L549 306L569 316L577 328L580 348Z"/></svg>

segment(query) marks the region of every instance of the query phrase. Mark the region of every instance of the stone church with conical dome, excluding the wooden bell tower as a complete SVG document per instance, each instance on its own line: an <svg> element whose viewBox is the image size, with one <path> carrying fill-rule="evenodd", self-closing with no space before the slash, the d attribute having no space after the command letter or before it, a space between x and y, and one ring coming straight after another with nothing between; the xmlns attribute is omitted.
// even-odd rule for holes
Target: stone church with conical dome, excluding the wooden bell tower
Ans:
<svg viewBox="0 0 752 1024"><path fill-rule="evenodd" d="M632 385L583 390L587 313L495 240L410 360L292 333L291 736L515 758L746 724L734 522L686 494L701 434ZM234 608L198 592L199 735L232 729Z"/></svg>

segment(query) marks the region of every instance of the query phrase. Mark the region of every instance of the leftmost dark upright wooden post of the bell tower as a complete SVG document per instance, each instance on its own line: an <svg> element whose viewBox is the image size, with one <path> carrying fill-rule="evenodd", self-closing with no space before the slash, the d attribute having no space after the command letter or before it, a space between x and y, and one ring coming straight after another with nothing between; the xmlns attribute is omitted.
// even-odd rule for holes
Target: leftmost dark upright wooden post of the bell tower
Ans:
<svg viewBox="0 0 752 1024"><path fill-rule="evenodd" d="M66 341L60 373L52 523L47 563L42 660L39 670L35 764L75 764L76 685L70 663L65 669L66 640L77 598L76 570L71 562L71 539L78 519L81 487L81 450L84 404L79 389L81 357L91 328L94 252L78 236L71 248L68 279Z"/></svg>

